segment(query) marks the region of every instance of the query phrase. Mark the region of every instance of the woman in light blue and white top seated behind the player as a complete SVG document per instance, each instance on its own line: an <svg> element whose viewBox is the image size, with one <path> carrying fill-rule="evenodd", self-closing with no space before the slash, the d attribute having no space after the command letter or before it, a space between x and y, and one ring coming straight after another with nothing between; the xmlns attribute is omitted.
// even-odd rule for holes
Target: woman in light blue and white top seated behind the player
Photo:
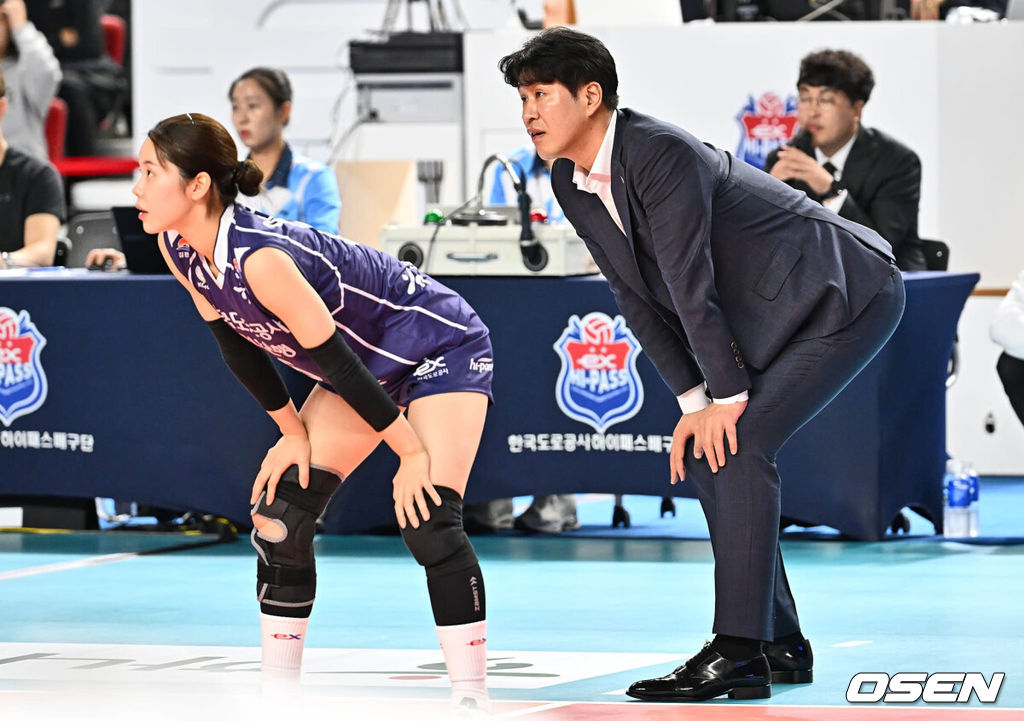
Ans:
<svg viewBox="0 0 1024 721"><path fill-rule="evenodd" d="M292 114L288 76L274 68L253 68L231 83L227 96L234 130L264 178L259 193L242 202L275 218L338 232L341 198L334 172L285 142Z"/></svg>

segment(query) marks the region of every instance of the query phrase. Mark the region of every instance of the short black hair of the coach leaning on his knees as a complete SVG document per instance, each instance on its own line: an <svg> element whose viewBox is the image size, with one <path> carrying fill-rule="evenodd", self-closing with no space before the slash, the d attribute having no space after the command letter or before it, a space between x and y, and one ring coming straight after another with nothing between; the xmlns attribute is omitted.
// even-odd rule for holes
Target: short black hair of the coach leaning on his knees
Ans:
<svg viewBox="0 0 1024 721"><path fill-rule="evenodd" d="M601 86L604 107L609 111L618 107L615 60L604 43L585 33L568 28L546 30L503 57L498 69L514 88L557 81L573 97L584 85L596 82Z"/></svg>

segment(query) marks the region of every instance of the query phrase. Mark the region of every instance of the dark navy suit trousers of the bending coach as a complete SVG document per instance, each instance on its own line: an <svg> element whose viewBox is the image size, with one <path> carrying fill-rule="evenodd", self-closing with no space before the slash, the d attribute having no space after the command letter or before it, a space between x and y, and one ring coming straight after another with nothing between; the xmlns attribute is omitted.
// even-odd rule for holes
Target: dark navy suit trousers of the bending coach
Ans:
<svg viewBox="0 0 1024 721"><path fill-rule="evenodd" d="M800 630L778 545L775 454L874 357L896 330L904 301L893 265L850 325L788 344L764 370L748 368L752 387L736 424L738 453L727 450L718 473L693 458L692 439L687 444L686 480L696 486L715 556L714 633L771 641Z"/></svg>

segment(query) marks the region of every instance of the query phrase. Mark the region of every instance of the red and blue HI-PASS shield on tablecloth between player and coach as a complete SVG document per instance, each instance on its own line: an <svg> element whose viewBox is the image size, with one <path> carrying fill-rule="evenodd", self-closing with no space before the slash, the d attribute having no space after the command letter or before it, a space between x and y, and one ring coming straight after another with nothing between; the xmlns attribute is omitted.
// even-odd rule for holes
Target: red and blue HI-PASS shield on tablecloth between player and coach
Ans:
<svg viewBox="0 0 1024 721"><path fill-rule="evenodd" d="M555 385L562 413L598 433L637 415L643 406L640 343L622 315L572 315L554 349L562 362Z"/></svg>

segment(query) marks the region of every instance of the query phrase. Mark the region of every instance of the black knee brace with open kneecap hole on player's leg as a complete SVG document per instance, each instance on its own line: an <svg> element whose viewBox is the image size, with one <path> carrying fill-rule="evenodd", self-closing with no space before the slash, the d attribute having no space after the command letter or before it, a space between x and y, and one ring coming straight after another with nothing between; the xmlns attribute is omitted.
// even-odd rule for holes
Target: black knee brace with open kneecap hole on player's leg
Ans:
<svg viewBox="0 0 1024 721"><path fill-rule="evenodd" d="M299 485L298 466L289 467L278 482L273 503L266 492L253 506L253 515L269 518L282 532L280 538L263 536L255 526L251 540L256 549L256 598L260 610L271 616L304 619L316 596L313 536L316 519L327 508L342 478L321 468L309 469L309 487Z"/></svg>

